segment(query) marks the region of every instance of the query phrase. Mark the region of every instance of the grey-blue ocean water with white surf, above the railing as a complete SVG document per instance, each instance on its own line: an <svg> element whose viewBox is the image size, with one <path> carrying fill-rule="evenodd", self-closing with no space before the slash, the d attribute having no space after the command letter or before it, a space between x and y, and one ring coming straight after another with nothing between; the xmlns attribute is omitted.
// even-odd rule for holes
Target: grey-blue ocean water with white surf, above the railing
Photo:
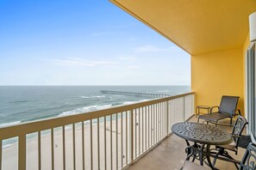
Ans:
<svg viewBox="0 0 256 170"><path fill-rule="evenodd" d="M0 126L153 99L102 94L102 89L169 95L190 92L190 86L0 86Z"/></svg>

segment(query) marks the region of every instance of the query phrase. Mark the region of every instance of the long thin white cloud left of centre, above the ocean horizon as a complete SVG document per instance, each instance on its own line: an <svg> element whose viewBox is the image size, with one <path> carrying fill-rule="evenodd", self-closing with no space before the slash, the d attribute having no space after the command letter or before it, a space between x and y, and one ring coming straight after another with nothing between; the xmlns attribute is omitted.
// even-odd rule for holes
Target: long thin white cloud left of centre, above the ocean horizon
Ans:
<svg viewBox="0 0 256 170"><path fill-rule="evenodd" d="M84 67L96 67L96 66L112 66L116 64L116 62L112 61L91 61L91 60L85 60L83 58L65 58L65 59L53 59L54 63L60 64L60 65L76 65L76 66L84 66Z"/></svg>

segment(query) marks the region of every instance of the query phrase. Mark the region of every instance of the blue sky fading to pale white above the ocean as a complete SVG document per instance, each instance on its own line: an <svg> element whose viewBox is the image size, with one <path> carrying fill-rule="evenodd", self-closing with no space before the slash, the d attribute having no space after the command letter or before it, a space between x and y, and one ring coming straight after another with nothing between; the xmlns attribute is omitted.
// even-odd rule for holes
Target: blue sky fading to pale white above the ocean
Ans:
<svg viewBox="0 0 256 170"><path fill-rule="evenodd" d="M190 55L108 0L1 0L0 85L190 85Z"/></svg>

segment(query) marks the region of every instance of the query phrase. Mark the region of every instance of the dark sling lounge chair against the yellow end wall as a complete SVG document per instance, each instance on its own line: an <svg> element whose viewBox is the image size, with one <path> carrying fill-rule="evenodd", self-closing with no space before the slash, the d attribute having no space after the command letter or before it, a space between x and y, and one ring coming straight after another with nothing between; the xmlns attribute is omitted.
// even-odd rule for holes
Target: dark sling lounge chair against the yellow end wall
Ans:
<svg viewBox="0 0 256 170"><path fill-rule="evenodd" d="M232 119L236 115L236 112L238 111L238 114L240 114L240 110L236 109L238 100L238 96L223 95L220 106L213 106L210 108L209 114L198 116L197 122L199 122L199 119L201 118L206 121L207 124L210 122L217 125L219 120L230 118L229 125L232 125ZM218 108L217 112L214 112L215 108Z"/></svg>

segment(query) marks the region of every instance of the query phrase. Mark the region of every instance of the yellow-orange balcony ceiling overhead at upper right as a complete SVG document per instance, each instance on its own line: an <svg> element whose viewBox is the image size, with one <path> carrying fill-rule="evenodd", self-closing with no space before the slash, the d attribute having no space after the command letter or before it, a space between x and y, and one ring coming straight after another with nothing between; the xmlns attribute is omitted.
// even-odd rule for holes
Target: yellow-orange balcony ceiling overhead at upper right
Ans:
<svg viewBox="0 0 256 170"><path fill-rule="evenodd" d="M256 0L110 0L191 55L242 48Z"/></svg>

